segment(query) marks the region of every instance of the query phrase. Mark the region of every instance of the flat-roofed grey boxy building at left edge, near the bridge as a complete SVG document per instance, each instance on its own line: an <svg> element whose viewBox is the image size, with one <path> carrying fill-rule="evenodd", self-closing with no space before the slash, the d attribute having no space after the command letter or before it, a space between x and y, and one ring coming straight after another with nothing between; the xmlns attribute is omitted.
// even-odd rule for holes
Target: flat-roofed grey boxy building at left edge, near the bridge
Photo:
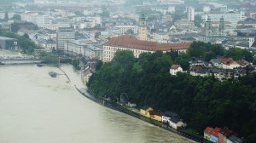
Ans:
<svg viewBox="0 0 256 143"><path fill-rule="evenodd" d="M0 37L0 49L18 49L18 40L9 37Z"/></svg>

